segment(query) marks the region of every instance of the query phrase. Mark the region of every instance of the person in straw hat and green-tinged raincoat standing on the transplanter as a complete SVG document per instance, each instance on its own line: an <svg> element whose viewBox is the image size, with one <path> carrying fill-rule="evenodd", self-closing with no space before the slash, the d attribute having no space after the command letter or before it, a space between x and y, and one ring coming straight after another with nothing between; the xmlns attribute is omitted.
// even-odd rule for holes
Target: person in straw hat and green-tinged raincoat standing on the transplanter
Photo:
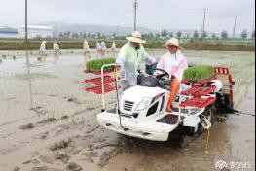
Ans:
<svg viewBox="0 0 256 171"><path fill-rule="evenodd" d="M141 39L140 32L133 32L127 40L128 43L121 48L116 60L116 63L121 67L121 73L126 73L125 80L121 81L123 90L137 85L137 71L140 72L139 63L142 60L149 65L156 62L156 59L145 51L142 44L145 44L146 41Z"/></svg>

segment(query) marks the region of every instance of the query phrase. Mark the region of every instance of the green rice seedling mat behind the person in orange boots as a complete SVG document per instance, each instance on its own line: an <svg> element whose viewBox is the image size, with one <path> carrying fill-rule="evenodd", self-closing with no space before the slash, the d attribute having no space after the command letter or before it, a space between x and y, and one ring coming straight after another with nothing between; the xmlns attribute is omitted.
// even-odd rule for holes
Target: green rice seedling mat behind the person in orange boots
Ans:
<svg viewBox="0 0 256 171"><path fill-rule="evenodd" d="M188 81L207 80L215 75L214 67L198 65L184 71L183 78Z"/></svg>

